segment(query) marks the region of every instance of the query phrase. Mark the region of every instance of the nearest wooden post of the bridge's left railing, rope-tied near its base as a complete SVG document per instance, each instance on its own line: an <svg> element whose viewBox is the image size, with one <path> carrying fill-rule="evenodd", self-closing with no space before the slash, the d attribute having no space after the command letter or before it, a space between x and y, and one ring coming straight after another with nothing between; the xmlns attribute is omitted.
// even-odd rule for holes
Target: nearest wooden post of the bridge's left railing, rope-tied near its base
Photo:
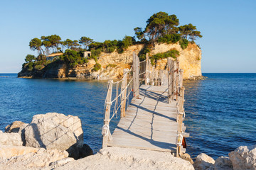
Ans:
<svg viewBox="0 0 256 170"><path fill-rule="evenodd" d="M107 88L107 97L106 97L106 108L105 108L105 115L104 115L104 126L107 127L106 135L103 135L102 139L102 148L107 147L107 140L112 138L110 134L110 109L111 109L111 98L112 98L112 86L113 81L110 80ZM103 126L103 127L104 127ZM103 131L103 130L102 130Z"/></svg>

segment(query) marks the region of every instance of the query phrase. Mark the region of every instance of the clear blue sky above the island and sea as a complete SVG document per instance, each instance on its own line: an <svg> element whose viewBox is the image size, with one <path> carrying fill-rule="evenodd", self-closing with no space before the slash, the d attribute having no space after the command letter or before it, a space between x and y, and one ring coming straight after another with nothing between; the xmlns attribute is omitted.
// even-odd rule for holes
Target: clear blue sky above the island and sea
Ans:
<svg viewBox="0 0 256 170"><path fill-rule="evenodd" d="M0 73L17 73L32 38L121 40L154 13L201 31L202 72L256 72L256 1L0 1Z"/></svg>

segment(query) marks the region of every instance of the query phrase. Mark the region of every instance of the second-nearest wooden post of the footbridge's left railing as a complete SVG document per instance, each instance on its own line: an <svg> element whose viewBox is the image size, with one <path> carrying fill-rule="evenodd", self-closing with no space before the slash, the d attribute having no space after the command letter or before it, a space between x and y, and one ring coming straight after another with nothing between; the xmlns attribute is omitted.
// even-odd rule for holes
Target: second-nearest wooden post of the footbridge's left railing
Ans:
<svg viewBox="0 0 256 170"><path fill-rule="evenodd" d="M126 105L126 98L127 98L127 74L128 69L124 69L124 77L122 79L122 85L121 85L121 117L125 116L125 105Z"/></svg>

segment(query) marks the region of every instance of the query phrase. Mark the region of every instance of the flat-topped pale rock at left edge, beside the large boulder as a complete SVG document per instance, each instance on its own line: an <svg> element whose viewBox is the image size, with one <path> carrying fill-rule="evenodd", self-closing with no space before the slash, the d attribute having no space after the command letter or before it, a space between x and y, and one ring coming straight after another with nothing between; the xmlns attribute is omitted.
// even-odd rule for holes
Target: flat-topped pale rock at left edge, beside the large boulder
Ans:
<svg viewBox="0 0 256 170"><path fill-rule="evenodd" d="M21 135L18 133L4 133L0 130L0 145L22 146Z"/></svg>

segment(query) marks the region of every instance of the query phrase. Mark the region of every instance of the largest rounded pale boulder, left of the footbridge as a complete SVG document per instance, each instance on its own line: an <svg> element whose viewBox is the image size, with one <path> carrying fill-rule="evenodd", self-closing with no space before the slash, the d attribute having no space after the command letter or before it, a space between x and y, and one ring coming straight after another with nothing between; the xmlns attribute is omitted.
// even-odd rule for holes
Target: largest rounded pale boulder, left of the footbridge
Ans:
<svg viewBox="0 0 256 170"><path fill-rule="evenodd" d="M81 120L60 113L34 115L25 128L25 140L27 147L67 150L73 145L82 146Z"/></svg>

